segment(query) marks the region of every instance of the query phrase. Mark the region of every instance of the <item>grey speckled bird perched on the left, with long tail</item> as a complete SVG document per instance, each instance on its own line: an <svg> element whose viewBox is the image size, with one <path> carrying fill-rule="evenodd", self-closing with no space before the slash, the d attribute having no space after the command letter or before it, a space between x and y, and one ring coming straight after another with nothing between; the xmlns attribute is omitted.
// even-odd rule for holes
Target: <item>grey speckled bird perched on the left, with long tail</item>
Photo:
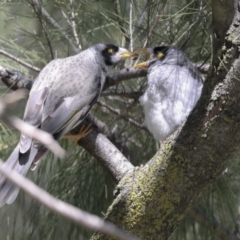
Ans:
<svg viewBox="0 0 240 240"><path fill-rule="evenodd" d="M29 94L24 121L58 140L78 125L96 103L109 66L131 58L131 52L113 44L96 44L81 53L47 64ZM5 166L25 175L34 170L48 150L21 134ZM0 176L0 206L11 204L19 189Z"/></svg>

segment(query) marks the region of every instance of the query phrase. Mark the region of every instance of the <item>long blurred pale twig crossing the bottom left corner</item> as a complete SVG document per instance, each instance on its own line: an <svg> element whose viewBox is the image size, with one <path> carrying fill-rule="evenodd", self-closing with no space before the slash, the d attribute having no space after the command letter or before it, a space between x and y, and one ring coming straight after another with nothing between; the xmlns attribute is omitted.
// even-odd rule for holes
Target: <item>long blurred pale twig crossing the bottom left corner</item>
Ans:
<svg viewBox="0 0 240 240"><path fill-rule="evenodd" d="M3 165L0 160L0 172L9 181L21 188L25 193L44 205L46 208L55 212L78 225L85 226L94 231L105 233L109 236L116 237L121 240L138 240L138 238L125 233L123 230L116 227L110 222L106 222L100 217L85 212L68 203L54 198L52 195L35 185L32 181L18 174L15 170L11 170Z"/></svg>

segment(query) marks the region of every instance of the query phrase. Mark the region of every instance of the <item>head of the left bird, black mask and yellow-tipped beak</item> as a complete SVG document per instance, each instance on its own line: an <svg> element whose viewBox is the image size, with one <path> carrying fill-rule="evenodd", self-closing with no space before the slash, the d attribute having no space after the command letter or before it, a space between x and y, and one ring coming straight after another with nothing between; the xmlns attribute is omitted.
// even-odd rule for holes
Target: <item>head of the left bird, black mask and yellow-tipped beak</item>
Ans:
<svg viewBox="0 0 240 240"><path fill-rule="evenodd" d="M127 58L136 58L137 54L128 51L125 48L113 44L97 44L95 48L100 51L107 66L112 66Z"/></svg>

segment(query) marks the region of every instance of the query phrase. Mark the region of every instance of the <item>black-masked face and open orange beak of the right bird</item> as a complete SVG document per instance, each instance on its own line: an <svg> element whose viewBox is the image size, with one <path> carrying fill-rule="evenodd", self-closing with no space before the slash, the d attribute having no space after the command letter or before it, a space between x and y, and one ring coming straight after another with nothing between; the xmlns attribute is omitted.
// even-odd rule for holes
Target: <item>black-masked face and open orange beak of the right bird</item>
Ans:
<svg viewBox="0 0 240 240"><path fill-rule="evenodd" d="M145 53L149 59L146 62L141 62L135 66L134 68L149 68L156 61L163 61L167 56L169 56L169 52L171 50L168 46L157 46L153 48L139 48L143 53Z"/></svg>

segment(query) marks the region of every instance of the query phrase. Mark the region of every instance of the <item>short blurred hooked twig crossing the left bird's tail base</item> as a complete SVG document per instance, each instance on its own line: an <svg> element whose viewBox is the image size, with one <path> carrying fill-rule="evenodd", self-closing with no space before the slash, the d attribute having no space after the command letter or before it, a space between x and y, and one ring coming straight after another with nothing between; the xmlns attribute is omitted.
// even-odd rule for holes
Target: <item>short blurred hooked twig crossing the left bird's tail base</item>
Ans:
<svg viewBox="0 0 240 240"><path fill-rule="evenodd" d="M65 150L63 150L60 145L55 141L51 134L37 129L28 123L20 120L16 117L9 117L5 114L5 108L7 104L12 103L24 96L27 96L26 90L17 90L14 93L10 93L6 95L6 97L2 98L0 101L0 119L8 126L16 128L18 131L23 133L24 135L37 140L46 146L50 151L52 151L55 155L60 158L64 158L66 156Z"/></svg>

